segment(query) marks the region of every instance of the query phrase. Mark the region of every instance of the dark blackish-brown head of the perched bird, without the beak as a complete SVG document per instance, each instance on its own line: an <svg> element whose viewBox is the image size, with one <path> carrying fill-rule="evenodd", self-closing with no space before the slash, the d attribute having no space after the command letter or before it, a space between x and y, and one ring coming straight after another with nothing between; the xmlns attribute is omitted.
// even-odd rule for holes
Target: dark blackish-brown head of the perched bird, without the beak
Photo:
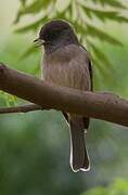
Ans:
<svg viewBox="0 0 128 195"><path fill-rule="evenodd" d="M72 26L63 21L47 23L39 32L39 39L44 40L46 52L52 52L60 46L78 44L78 39Z"/></svg>

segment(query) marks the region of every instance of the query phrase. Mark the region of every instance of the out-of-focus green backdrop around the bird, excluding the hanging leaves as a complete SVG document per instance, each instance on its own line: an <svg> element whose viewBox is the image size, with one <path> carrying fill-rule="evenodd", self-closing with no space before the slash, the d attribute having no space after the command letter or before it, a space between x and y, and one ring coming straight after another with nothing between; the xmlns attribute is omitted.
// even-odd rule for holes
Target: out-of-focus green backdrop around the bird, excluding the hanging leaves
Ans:
<svg viewBox="0 0 128 195"><path fill-rule="evenodd" d="M21 57L24 51L33 46L37 32L14 32L18 26L13 25L18 6L18 0L0 0L0 61L12 68L40 77L40 50L28 57ZM26 16L21 24L33 22L34 17L36 16ZM117 47L95 40L97 46L114 64L113 70L106 67L104 79L101 77L102 69L94 73L95 89L113 91L127 99L128 25L114 22L98 25L124 46ZM14 99L16 100L1 93L0 105L17 105L22 102ZM91 170L74 173L68 164L68 127L60 112L0 115L0 194L128 194L127 128L91 119L88 148ZM113 182L115 183L112 184ZM91 191L97 186L101 187Z"/></svg>

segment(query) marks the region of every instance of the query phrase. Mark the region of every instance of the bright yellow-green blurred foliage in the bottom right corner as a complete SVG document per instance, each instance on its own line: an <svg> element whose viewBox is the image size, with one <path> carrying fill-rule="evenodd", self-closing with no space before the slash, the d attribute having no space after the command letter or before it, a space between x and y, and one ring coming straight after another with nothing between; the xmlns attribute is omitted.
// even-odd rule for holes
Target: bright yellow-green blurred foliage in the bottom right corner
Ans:
<svg viewBox="0 0 128 195"><path fill-rule="evenodd" d="M95 187L87 191L82 195L127 195L128 180L118 179L106 187Z"/></svg>

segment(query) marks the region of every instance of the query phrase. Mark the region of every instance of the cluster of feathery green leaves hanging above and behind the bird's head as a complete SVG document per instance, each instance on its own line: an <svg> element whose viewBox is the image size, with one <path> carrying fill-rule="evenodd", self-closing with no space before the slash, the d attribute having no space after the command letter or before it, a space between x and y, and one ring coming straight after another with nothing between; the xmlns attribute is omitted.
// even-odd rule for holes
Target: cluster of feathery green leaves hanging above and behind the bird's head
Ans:
<svg viewBox="0 0 128 195"><path fill-rule="evenodd" d="M107 66L113 69L113 63L97 46L97 40L105 41L114 46L121 46L121 41L101 29L100 24L107 21L127 23L128 18L123 15L127 8L118 0L21 0L14 24L26 15L38 16L33 23L17 28L16 32L36 31L49 20L63 18L72 23L80 38L91 53L95 67L104 78ZM107 30L108 31L108 30ZM35 48L28 48L24 57L36 52ZM111 70L112 70L111 69ZM97 73L97 72L95 72ZM113 72L111 72L113 73ZM112 75L111 75L112 76Z"/></svg>

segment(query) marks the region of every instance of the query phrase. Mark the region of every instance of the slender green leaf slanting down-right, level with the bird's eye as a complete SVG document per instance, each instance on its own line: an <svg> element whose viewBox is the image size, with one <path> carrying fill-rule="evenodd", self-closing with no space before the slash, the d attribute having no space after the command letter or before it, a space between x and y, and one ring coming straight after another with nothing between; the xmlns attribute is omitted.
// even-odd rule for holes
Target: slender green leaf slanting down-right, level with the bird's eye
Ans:
<svg viewBox="0 0 128 195"><path fill-rule="evenodd" d="M86 34L88 37L95 37L102 41L107 41L116 46L123 46L123 43L118 41L117 39L113 38L112 36L99 29L98 27L89 25L89 24L86 24Z"/></svg>

